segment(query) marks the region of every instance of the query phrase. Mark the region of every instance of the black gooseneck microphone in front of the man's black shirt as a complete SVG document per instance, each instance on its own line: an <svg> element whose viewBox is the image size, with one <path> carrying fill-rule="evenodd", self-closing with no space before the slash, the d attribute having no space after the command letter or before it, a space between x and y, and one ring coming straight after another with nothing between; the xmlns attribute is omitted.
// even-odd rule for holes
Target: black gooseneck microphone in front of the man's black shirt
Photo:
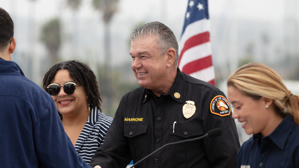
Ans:
<svg viewBox="0 0 299 168"><path fill-rule="evenodd" d="M149 155L147 155L146 157L142 158L141 160L139 160L138 162L136 162L135 164L133 164L133 166L131 166L129 168L133 168L134 166L137 166L142 161L144 161L145 159L147 159L149 156L153 155L154 153L158 152L159 150L165 148L168 145L173 145L173 144L183 143L183 142L189 142L189 141L193 141L193 140L199 140L199 139L206 138L206 137L213 138L213 137L217 137L217 136L219 136L221 134L222 134L222 131L221 131L220 128L214 128L214 129L211 129L210 131L208 131L205 135L202 135L200 137L196 137L196 138L192 138L192 139L186 139L186 140L181 140L181 141L177 141L177 142L166 143L165 145L163 145L160 148L156 149L154 152L152 152Z"/></svg>

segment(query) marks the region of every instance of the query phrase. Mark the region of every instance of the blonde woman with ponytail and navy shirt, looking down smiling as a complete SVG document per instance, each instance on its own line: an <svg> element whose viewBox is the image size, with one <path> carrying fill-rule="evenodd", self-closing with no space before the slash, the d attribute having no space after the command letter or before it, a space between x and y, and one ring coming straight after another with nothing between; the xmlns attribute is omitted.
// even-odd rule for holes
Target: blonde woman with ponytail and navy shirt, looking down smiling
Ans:
<svg viewBox="0 0 299 168"><path fill-rule="evenodd" d="M299 168L299 97L279 75L259 64L243 65L227 80L228 99L246 134L237 154L240 167Z"/></svg>

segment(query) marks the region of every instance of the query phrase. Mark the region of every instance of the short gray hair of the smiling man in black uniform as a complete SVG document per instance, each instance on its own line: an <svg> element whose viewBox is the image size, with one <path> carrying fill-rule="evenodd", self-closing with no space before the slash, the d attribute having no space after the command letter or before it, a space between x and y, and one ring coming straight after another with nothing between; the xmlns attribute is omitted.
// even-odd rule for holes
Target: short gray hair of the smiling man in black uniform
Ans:
<svg viewBox="0 0 299 168"><path fill-rule="evenodd" d="M170 30L166 25L161 22L149 22L145 25L142 25L131 33L131 41L134 41L138 38L144 38L148 36L156 36L157 43L160 46L160 54L162 55L167 49L173 48L176 51L175 64L178 66L179 61L179 46L176 36L173 34L173 31Z"/></svg>

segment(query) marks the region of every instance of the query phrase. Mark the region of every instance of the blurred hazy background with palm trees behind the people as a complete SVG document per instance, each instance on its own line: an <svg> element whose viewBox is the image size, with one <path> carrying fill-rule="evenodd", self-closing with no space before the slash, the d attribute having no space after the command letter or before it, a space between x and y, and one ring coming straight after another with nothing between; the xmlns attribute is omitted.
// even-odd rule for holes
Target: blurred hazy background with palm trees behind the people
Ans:
<svg viewBox="0 0 299 168"><path fill-rule="evenodd" d="M138 87L131 69L129 35L159 21L180 39L188 0L0 0L12 17L17 41L12 60L42 86L57 62L77 59L97 76L102 110L114 117L126 92ZM239 66L260 62L299 94L297 0L209 0L216 86ZM240 124L237 123L237 127ZM241 130L244 132L243 130ZM248 139L240 135L240 142Z"/></svg>

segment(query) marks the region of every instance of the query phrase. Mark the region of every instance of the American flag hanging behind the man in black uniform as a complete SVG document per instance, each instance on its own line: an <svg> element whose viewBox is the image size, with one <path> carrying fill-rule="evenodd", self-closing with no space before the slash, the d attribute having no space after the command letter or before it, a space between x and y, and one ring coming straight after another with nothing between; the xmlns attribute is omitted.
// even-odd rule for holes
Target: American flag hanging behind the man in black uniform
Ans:
<svg viewBox="0 0 299 168"><path fill-rule="evenodd" d="M179 40L179 68L186 74L215 85L208 0L188 1Z"/></svg>

